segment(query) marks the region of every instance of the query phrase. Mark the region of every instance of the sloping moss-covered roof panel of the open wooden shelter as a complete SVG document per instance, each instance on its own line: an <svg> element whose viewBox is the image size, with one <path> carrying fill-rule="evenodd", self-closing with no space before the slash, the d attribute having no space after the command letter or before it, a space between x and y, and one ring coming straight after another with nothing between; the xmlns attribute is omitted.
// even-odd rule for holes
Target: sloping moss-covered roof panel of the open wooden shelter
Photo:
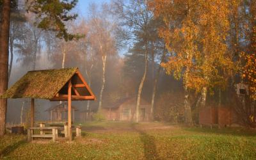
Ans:
<svg viewBox="0 0 256 160"><path fill-rule="evenodd" d="M32 70L6 90L1 98L52 99L78 68Z"/></svg>

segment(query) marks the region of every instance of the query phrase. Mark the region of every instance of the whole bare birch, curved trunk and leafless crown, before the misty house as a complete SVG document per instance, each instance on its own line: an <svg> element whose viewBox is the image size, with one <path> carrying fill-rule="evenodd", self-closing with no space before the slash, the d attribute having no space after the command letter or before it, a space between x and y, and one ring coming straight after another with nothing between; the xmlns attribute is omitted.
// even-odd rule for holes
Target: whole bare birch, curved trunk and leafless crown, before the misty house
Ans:
<svg viewBox="0 0 256 160"><path fill-rule="evenodd" d="M120 25L124 26L124 33L127 33L125 36L127 42L131 42L130 44L141 42L143 44L144 72L138 86L136 98L136 122L139 122L141 92L147 76L148 52L150 50L150 20L153 18L153 13L148 10L146 0L129 1L128 4L124 3L124 1L116 0L113 2L113 6L115 7L114 13L117 14L120 19Z"/></svg>

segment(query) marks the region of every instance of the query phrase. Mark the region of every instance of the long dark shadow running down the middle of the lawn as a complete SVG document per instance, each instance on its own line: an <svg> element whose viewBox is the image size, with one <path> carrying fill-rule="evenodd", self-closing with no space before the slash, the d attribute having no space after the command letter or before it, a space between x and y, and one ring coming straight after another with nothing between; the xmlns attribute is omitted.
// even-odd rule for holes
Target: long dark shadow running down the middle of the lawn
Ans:
<svg viewBox="0 0 256 160"><path fill-rule="evenodd" d="M154 138L154 136L150 136L145 131L137 129L135 124L131 124L131 128L140 133L140 140L143 143L145 159L161 159L156 150L156 138Z"/></svg>

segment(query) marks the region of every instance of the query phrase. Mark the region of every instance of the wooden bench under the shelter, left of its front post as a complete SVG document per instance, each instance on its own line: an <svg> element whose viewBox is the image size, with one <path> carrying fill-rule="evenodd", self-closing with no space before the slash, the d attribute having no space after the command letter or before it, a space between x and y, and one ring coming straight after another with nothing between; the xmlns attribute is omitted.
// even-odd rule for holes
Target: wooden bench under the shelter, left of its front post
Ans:
<svg viewBox="0 0 256 160"><path fill-rule="evenodd" d="M52 134L34 134L35 130L40 130L42 133L44 130L52 130ZM56 141L58 138L58 127L31 127L28 129L28 141L33 141L33 138L52 138L52 141Z"/></svg>

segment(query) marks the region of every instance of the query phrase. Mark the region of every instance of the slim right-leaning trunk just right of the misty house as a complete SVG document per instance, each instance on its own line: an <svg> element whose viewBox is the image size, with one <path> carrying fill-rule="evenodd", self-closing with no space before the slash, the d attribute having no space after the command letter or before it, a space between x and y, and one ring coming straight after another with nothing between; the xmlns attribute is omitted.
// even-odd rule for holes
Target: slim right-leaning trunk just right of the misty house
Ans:
<svg viewBox="0 0 256 160"><path fill-rule="evenodd" d="M157 75L156 75L156 77L154 79L154 86L153 86L152 99L151 99L151 108L150 108L150 116L151 116L152 120L154 120L154 103L155 103L155 95L156 95L156 89L157 89L157 82L158 82L160 71L161 71L161 63L164 61L165 55L166 55L166 51L164 50L163 51L163 55L161 57L161 61L160 61L159 67L157 69Z"/></svg>

